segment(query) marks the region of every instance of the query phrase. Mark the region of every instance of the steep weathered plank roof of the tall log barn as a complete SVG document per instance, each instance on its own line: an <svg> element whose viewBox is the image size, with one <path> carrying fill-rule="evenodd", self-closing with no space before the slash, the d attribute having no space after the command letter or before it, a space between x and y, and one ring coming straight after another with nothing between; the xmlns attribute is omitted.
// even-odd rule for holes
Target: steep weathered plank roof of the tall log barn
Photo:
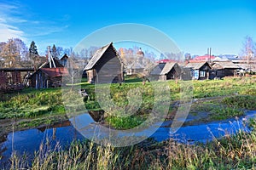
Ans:
<svg viewBox="0 0 256 170"><path fill-rule="evenodd" d="M93 55L93 57L90 59L89 63L85 66L84 71L90 70L93 68L94 65L96 65L96 62L102 58L102 55L107 51L109 47L112 47L115 54L119 58L119 54L117 53L116 49L113 47L113 42L110 42L108 45L99 48L96 50L96 53Z"/></svg>

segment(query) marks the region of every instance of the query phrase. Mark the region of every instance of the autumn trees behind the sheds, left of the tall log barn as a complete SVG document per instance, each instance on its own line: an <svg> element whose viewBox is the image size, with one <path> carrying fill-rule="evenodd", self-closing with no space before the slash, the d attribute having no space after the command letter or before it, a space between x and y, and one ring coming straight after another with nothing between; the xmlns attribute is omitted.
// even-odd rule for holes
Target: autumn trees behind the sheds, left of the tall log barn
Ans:
<svg viewBox="0 0 256 170"><path fill-rule="evenodd" d="M82 49L79 53L74 52L73 48L62 48L53 44L50 52L55 59L60 59L64 54L74 59L83 59L88 61L96 52L96 47ZM7 42L0 42L0 67L19 68L19 67L36 67L46 61L48 47L45 48L44 54L38 53L36 42L32 41L29 48L20 38L10 38Z"/></svg>

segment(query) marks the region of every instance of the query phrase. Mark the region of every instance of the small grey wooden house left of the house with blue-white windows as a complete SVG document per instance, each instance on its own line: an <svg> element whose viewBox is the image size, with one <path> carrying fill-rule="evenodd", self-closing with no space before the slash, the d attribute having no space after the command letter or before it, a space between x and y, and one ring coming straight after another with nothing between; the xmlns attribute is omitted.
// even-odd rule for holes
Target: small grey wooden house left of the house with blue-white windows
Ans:
<svg viewBox="0 0 256 170"><path fill-rule="evenodd" d="M177 63L159 63L150 72L150 77L160 81L181 79L181 72L181 67Z"/></svg>

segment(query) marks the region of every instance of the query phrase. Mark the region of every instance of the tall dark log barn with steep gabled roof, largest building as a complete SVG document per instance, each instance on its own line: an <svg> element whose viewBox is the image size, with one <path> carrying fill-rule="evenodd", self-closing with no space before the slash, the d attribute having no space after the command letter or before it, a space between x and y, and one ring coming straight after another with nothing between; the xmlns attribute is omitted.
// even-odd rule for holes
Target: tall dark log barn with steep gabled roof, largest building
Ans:
<svg viewBox="0 0 256 170"><path fill-rule="evenodd" d="M123 82L123 63L113 42L96 50L85 66L87 81L91 83Z"/></svg>

